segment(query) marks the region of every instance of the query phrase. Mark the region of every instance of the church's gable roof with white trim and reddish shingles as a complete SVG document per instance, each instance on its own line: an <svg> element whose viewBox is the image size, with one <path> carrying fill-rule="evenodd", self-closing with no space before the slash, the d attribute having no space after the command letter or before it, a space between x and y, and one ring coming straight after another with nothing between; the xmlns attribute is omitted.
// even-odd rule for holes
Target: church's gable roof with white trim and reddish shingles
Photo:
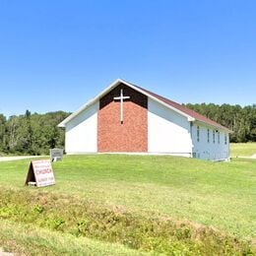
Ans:
<svg viewBox="0 0 256 256"><path fill-rule="evenodd" d="M111 90L113 90L115 87L119 86L120 84L124 84L125 86L128 86L132 89L134 89L135 91L148 96L150 98L152 98L155 101L160 102L160 104L174 110L175 112L178 112L179 114L185 116L188 118L188 121L199 121L202 122L206 125L210 125L216 128L220 128L222 130L225 130L226 132L232 132L231 130L227 129L226 127L224 127L223 125L211 120L210 118L199 114L198 112L189 109L188 107L181 105L177 102L174 102L166 97L163 96L159 96L155 93L152 93L144 88L138 87L136 85L133 85L129 82L126 82L122 79L117 79L116 81L114 81L111 85L109 85L104 91L102 91L99 95L97 95L96 97L94 97L93 99L89 100L86 104L82 105L77 111L75 111L74 113L72 113L71 115L69 115L66 119L64 119L59 125L58 127L65 127L65 125L71 121L75 116L77 116L79 113L81 113L82 111L84 111L86 108L88 108L90 105L94 104L97 100L99 100L99 98L101 98L102 96L105 96L106 94L108 94Z"/></svg>

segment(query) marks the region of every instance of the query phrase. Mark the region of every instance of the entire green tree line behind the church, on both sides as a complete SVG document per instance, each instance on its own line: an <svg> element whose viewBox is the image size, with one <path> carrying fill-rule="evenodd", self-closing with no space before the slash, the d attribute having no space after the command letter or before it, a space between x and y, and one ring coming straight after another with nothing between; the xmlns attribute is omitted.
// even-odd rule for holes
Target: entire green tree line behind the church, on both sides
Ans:
<svg viewBox="0 0 256 256"><path fill-rule="evenodd" d="M256 142L256 104L185 104L233 131L230 142ZM44 155L49 149L64 148L64 130L57 125L70 113L64 111L45 114L0 114L0 155Z"/></svg>

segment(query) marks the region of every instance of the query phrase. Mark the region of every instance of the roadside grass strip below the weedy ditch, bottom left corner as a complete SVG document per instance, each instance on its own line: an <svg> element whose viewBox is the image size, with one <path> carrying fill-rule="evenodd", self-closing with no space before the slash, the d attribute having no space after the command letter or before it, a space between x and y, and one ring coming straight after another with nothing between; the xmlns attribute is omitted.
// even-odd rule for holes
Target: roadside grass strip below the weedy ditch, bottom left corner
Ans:
<svg viewBox="0 0 256 256"><path fill-rule="evenodd" d="M146 255L121 244L105 243L84 236L75 237L33 224L6 220L0 222L0 244L5 251L15 255Z"/></svg>

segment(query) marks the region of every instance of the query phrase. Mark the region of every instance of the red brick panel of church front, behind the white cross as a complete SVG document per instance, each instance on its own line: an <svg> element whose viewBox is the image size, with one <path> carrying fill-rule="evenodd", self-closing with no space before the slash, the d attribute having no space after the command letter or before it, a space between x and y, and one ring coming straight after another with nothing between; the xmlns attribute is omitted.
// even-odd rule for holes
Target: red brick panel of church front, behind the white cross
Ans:
<svg viewBox="0 0 256 256"><path fill-rule="evenodd" d="M120 96L123 102L123 123L120 122ZM148 152L148 97L120 85L99 100L97 115L98 152Z"/></svg>

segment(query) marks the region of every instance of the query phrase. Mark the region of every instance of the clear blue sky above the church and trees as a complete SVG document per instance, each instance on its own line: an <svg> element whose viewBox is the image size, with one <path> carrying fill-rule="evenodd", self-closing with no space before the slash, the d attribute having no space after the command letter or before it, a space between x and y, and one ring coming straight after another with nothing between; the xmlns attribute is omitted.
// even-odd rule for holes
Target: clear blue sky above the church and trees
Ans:
<svg viewBox="0 0 256 256"><path fill-rule="evenodd" d="M256 1L1 0L0 113L74 111L116 78L256 103Z"/></svg>

